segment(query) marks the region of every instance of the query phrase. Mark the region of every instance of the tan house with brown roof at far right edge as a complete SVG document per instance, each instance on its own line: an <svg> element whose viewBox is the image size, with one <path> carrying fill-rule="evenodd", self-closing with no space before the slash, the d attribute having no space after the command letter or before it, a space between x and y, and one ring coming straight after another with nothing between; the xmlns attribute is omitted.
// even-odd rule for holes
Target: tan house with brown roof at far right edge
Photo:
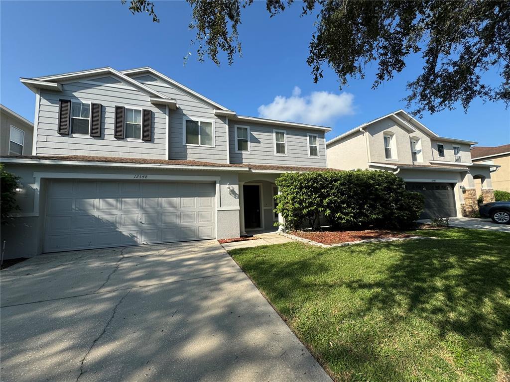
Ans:
<svg viewBox="0 0 510 382"><path fill-rule="evenodd" d="M500 166L492 174L494 189L510 192L510 144L496 147L475 146L471 148L471 159L475 163L485 163ZM480 185L477 182L477 188Z"/></svg>

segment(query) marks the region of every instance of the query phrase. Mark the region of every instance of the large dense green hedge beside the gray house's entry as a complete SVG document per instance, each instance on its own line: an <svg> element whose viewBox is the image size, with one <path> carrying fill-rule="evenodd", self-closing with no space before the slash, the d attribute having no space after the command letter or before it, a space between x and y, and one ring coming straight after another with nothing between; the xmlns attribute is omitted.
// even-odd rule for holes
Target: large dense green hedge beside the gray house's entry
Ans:
<svg viewBox="0 0 510 382"><path fill-rule="evenodd" d="M388 171L285 173L276 179L276 211L289 228L320 227L324 216L336 228L404 228L423 209L420 194Z"/></svg>

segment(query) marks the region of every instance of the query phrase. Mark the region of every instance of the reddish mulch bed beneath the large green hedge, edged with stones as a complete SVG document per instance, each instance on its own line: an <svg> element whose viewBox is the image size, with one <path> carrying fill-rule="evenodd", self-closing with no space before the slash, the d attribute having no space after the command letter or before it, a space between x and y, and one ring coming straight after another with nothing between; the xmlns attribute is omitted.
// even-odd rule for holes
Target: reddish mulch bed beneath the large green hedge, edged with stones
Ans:
<svg viewBox="0 0 510 382"><path fill-rule="evenodd" d="M364 239L380 239L388 237L411 237L412 235L387 230L364 230L364 231L292 231L292 235L317 241L323 244L338 244L349 241Z"/></svg>

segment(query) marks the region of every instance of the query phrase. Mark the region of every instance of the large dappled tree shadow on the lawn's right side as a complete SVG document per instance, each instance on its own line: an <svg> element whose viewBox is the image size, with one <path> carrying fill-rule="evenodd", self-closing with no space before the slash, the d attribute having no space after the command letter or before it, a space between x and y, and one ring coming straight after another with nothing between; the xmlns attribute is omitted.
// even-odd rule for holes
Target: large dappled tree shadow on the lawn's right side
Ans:
<svg viewBox="0 0 510 382"><path fill-rule="evenodd" d="M501 354L508 365L510 347L501 339L510 330L510 235L466 230L430 245L421 240L391 245L398 245L401 255L384 277L347 284L352 291L370 292L354 314L378 309L395 321L400 310L401 319L426 320L442 338L456 333ZM374 254L381 250L373 248Z"/></svg>

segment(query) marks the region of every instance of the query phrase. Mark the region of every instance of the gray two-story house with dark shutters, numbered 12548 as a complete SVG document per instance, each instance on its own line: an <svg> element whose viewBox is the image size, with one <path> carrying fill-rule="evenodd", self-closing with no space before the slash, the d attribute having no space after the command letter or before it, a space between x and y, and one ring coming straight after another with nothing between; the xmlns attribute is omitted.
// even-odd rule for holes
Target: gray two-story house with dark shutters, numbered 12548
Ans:
<svg viewBox="0 0 510 382"><path fill-rule="evenodd" d="M330 128L240 116L151 68L21 78L34 143L6 257L276 229L274 181L326 168Z"/></svg>

